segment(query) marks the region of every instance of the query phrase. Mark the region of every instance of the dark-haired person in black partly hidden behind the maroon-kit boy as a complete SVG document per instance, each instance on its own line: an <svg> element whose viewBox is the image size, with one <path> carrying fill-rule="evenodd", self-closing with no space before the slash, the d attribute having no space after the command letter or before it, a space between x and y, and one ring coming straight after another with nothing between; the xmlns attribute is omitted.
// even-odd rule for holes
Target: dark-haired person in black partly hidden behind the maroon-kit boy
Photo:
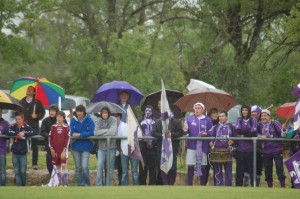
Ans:
<svg viewBox="0 0 300 199"><path fill-rule="evenodd" d="M43 119L42 126L41 126L41 136L45 138L45 150L46 150L46 164L47 169L49 171L49 174L51 176L53 165L52 165L52 156L51 151L49 148L49 132L51 129L51 126L53 124L56 124L56 113L58 112L57 106L50 106L49 107L49 117Z"/></svg>

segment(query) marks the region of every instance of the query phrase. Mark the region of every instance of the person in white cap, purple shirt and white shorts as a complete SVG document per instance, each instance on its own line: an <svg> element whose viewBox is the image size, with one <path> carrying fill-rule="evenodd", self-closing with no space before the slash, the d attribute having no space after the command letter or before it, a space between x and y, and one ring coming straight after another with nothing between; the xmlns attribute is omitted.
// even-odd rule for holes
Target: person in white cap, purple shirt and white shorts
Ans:
<svg viewBox="0 0 300 199"><path fill-rule="evenodd" d="M207 132L212 128L212 121L208 116L203 114L205 106L201 102L195 103L193 109L194 114L190 115L184 122L183 134L189 137L206 137ZM196 176L200 176L200 185L206 185L205 166L208 164L207 154L209 152L209 141L187 141L186 164L188 165L188 185L193 185L195 166Z"/></svg>

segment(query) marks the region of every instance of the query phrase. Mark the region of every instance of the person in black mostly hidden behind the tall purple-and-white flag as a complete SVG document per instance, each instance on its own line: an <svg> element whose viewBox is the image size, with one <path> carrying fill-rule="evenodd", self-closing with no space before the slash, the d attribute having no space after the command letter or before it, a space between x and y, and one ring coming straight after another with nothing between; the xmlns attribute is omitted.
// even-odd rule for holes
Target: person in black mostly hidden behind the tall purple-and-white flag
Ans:
<svg viewBox="0 0 300 199"><path fill-rule="evenodd" d="M181 126L181 122L180 120L172 117L171 118L171 129L168 133L167 136L171 137L171 138L179 138L182 137L182 126ZM159 157L161 157L161 148L162 148L162 139L163 139L163 135L162 135L162 121L158 120L156 121L156 123L153 125L153 129L152 129L152 136L155 138L158 138L157 141L157 155ZM173 148L173 164L171 169L169 170L169 172L166 174L163 171L161 172L161 177L162 177L162 181L164 185L174 185L175 181L176 181L176 173L177 173L177 154L178 154L178 150L179 150L179 142L180 140L172 140L172 148Z"/></svg>

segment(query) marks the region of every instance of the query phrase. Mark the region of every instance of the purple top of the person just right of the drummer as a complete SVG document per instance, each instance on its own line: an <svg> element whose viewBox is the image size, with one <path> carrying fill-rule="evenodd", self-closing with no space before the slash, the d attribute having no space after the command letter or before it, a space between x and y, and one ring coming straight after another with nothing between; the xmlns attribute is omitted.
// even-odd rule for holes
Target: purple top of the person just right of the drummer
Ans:
<svg viewBox="0 0 300 199"><path fill-rule="evenodd" d="M250 122L251 120L251 122ZM250 125L251 123L251 125ZM248 135L253 134L253 136L248 136L248 137L254 137L257 132L257 121L255 118L250 117L247 120L242 119L241 117L236 118L236 123L235 123L235 129L236 132L239 130L242 130L244 132L247 132ZM253 143L251 140L239 140L238 141L238 147L237 151L240 152L253 152Z"/></svg>

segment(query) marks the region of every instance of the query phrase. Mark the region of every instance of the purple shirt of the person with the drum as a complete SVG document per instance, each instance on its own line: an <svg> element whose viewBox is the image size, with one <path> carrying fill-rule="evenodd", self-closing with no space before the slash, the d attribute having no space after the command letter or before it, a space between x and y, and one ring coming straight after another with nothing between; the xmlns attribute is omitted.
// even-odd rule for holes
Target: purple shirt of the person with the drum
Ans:
<svg viewBox="0 0 300 199"><path fill-rule="evenodd" d="M219 124L213 126L213 128L209 131L209 135L211 137L223 137L230 138L235 137L235 128L233 125L229 123ZM215 140L215 148L228 148L228 139L227 140Z"/></svg>

